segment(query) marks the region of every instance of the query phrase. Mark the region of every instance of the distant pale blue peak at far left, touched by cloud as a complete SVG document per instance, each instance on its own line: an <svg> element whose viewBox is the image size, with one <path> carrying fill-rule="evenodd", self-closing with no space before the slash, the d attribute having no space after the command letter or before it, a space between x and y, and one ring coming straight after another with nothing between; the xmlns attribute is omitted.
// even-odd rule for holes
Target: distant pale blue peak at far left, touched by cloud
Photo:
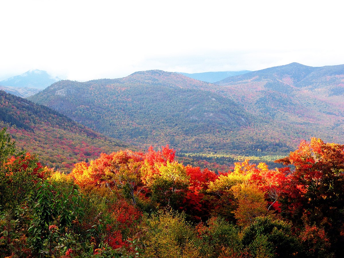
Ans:
<svg viewBox="0 0 344 258"><path fill-rule="evenodd" d="M0 86L10 86L16 88L36 88L42 90L59 80L61 79L51 76L46 71L33 69L21 75L13 76L11 78L0 81Z"/></svg>

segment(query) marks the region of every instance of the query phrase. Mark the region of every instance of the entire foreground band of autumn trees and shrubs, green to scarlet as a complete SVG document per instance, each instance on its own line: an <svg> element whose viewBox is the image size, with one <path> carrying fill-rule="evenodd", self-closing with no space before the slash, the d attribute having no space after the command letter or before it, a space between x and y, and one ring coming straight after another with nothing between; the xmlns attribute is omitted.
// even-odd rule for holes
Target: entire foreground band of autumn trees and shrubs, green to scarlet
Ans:
<svg viewBox="0 0 344 258"><path fill-rule="evenodd" d="M301 141L269 169L214 173L169 146L69 174L0 131L0 257L341 257L344 145Z"/></svg>

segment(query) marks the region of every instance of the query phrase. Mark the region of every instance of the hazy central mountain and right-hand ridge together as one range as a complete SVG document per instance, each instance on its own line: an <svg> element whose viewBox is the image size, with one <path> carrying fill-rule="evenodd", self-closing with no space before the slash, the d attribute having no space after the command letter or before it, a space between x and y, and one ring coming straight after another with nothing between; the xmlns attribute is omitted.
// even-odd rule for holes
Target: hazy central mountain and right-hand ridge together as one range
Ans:
<svg viewBox="0 0 344 258"><path fill-rule="evenodd" d="M159 70L89 82L63 80L29 99L147 148L286 154L301 139L344 142L342 66L298 63L216 84Z"/></svg>

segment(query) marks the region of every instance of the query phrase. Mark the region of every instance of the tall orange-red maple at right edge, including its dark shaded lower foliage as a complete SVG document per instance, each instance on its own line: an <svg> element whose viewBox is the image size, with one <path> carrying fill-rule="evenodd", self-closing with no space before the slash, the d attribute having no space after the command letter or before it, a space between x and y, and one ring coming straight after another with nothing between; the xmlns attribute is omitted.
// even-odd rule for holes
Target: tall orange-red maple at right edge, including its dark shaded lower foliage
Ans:
<svg viewBox="0 0 344 258"><path fill-rule="evenodd" d="M325 228L335 248L344 241L344 145L312 138L275 162L288 184L282 195L283 213L297 224ZM294 168L290 167L292 165Z"/></svg>

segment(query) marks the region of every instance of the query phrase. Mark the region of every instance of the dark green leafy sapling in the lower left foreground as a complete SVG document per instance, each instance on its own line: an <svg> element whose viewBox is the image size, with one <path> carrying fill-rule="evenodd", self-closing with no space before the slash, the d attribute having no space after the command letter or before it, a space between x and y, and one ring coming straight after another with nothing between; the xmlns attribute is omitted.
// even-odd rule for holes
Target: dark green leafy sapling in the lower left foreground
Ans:
<svg viewBox="0 0 344 258"><path fill-rule="evenodd" d="M73 182L44 180L32 196L28 229L33 254L60 257L67 249L86 249L88 234L81 230L84 196Z"/></svg>

